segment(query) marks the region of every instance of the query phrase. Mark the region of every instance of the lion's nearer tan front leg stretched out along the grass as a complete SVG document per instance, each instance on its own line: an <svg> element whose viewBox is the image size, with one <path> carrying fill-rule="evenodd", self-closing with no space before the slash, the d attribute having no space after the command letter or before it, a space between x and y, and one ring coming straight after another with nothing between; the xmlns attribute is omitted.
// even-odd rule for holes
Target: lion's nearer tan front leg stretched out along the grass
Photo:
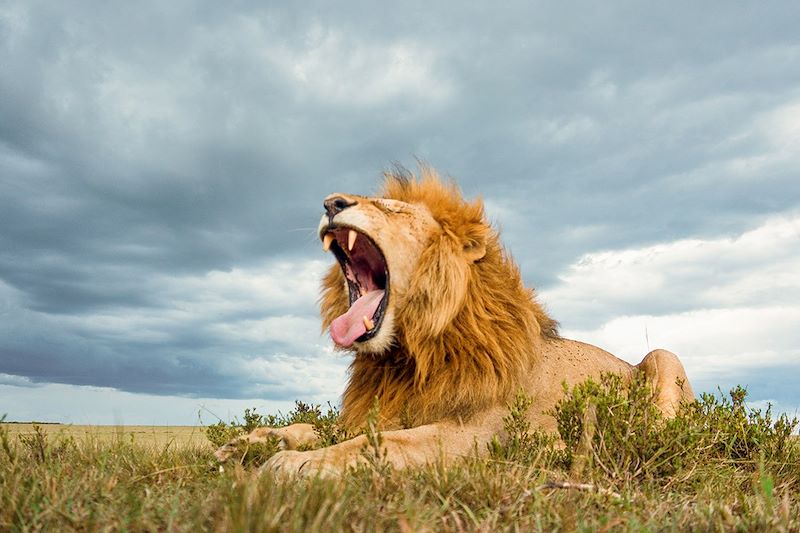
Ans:
<svg viewBox="0 0 800 533"><path fill-rule="evenodd" d="M496 432L494 426L464 426L445 422L382 432L380 455L398 469L439 460L451 462L470 455L476 449L485 451L486 444ZM368 446L367 438L361 435L319 450L281 451L261 468L262 471L288 476L338 475L348 468L366 464L368 460L364 451Z"/></svg>

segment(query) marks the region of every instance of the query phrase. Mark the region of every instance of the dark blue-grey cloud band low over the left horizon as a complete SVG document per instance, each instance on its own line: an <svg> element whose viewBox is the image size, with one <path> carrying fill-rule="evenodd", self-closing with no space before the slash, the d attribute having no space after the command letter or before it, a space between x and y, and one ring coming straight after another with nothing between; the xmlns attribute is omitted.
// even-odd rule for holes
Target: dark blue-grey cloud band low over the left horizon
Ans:
<svg viewBox="0 0 800 533"><path fill-rule="evenodd" d="M92 328L90 322L78 328L62 325L61 331L50 332L12 324L13 331L2 328L2 367L6 374L25 376L32 383L107 386L192 397L287 399L308 395L302 376L277 369L271 374L248 372L243 361L262 353L264 347L204 331L210 322L166 323L148 332L155 334L151 339L138 338L141 333L135 327L119 336ZM14 340L9 340L10 333ZM313 339L316 332L306 333ZM303 341L277 341L270 349L273 353L288 349L298 364L306 366L320 358L319 349L309 349Z"/></svg>

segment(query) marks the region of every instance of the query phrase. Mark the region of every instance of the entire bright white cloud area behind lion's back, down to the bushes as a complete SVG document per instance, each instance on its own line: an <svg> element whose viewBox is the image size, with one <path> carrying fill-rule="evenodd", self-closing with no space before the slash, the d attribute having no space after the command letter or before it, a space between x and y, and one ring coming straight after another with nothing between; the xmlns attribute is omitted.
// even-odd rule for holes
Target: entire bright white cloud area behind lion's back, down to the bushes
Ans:
<svg viewBox="0 0 800 533"><path fill-rule="evenodd" d="M587 254L541 299L563 334L636 364L654 348L683 361L697 391L748 387L800 407L800 217L741 235ZM791 407L792 409L789 409Z"/></svg>

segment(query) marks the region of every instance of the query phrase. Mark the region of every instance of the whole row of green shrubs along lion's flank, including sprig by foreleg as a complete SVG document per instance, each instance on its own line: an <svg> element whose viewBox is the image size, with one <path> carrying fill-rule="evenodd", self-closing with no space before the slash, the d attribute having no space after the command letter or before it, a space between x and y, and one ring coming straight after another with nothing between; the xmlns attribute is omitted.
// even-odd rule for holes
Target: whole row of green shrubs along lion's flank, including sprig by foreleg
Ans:
<svg viewBox="0 0 800 533"><path fill-rule="evenodd" d="M742 387L728 396L703 394L682 404L672 419L656 407L643 375L626 380L605 374L564 390L549 413L558 435L531 429L531 399L520 392L503 420L504 438L489 443L490 456L556 477L616 485L693 483L709 473L760 472L800 486L800 445L793 435L798 420L774 418L771 407L748 408Z"/></svg>

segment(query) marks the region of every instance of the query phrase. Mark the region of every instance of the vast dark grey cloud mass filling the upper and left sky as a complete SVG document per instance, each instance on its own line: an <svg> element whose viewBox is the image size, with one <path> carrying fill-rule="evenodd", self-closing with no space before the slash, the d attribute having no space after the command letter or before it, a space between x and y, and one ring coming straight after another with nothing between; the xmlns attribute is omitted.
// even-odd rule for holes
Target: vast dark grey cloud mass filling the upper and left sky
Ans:
<svg viewBox="0 0 800 533"><path fill-rule="evenodd" d="M311 320L314 298L168 320L200 290L182 280L318 257L321 198L373 191L413 156L501 208L544 288L587 252L797 208L791 162L738 180L725 165L775 150L752 125L796 101L798 9L6 4L0 280L17 292L0 298L26 327L7 330L0 372L293 394L242 365L317 348L211 330ZM160 337L93 322L142 314L167 320Z"/></svg>

